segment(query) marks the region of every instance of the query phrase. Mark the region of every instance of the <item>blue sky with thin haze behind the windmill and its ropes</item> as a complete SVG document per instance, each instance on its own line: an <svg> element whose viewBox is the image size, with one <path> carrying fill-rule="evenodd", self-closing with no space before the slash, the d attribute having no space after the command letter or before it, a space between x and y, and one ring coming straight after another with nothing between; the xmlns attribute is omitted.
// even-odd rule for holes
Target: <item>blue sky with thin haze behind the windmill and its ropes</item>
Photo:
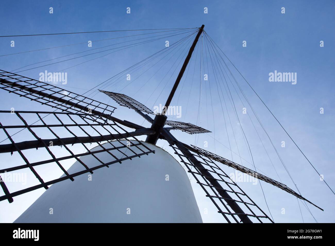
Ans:
<svg viewBox="0 0 335 246"><path fill-rule="evenodd" d="M34 4L26 1L17 1L15 4L4 2L2 7L6 9L6 12L0 18L2 23L6 24L1 28L1 35L190 28L205 24L205 31L239 69L300 149L334 189L334 1L322 1L321 3L320 1L210 1L209 3L204 1L178 1L175 3L173 1L122 1L122 3L118 1L40 1ZM53 7L53 14L49 13L49 7ZM131 8L131 14L126 13L127 7ZM208 14L204 14L204 7L208 8ZM282 7L285 7L285 14L281 13ZM143 32L139 31L136 34ZM0 38L0 55L87 42L87 40L112 38L124 34L132 35L134 32L2 37ZM179 38L169 38L170 44L176 42ZM15 41L15 47L10 47L11 40ZM242 47L243 40L247 41L247 47ZM320 47L320 40L324 41L324 47L322 48ZM109 42L93 43L93 48L112 44L112 42ZM75 90L79 94L80 92L83 93L85 89L96 86L125 68L163 49L164 42L165 39L161 39L150 43L150 45L127 49L66 69L65 72L68 73L67 86L69 86L67 89ZM11 71L31 63L54 59L83 50L88 50L85 44L83 46L70 46L3 56L0 57L0 69ZM185 52L187 50L188 48L186 48ZM38 78L39 73L44 72L44 70L51 72L62 70L83 62L85 59L59 63L46 68L32 69L24 71L22 74L27 77ZM170 64L170 67L172 66L172 63L168 64ZM192 65L192 61L190 64ZM297 84L269 82L269 73L275 70L278 72L297 73ZM193 72L192 67L190 71ZM176 73L178 73L178 69ZM127 87L126 90L119 91L122 86L112 86L110 90L116 90L116 92L132 96L142 103L147 101L145 104L148 107L164 103L167 93L172 88L176 74L170 74L172 78L170 81L165 81L167 84L160 96L158 96L160 90L157 90L158 92L155 91L153 96L149 97L151 88L156 87L164 73L157 73L149 81L150 83L143 87L143 90L137 92L144 81L148 80L151 75L150 71L145 73L143 77L137 79L137 82ZM325 210L322 212L309 206L314 217L318 222L335 222L333 212L334 194L319 180L318 174L299 153L264 105L248 88L245 81L236 72L234 75L262 120L264 127L303 196ZM209 73L209 76L210 82L213 82L211 80L213 75ZM182 117L177 120L201 125L212 132L215 127L215 139L225 146L229 146L224 130L223 117L220 114L221 107L219 105L219 97L215 91L215 84L211 84L215 117L212 115L212 107L209 107L209 103L205 103L204 100L206 98L202 94L200 122L199 120L197 121L200 89L199 75L195 78L196 80L194 81L196 82L192 88L192 80L190 78L185 80L183 90L181 88L177 90L177 94L181 92L182 95L180 101L177 100L177 97L172 101L172 105L181 105L182 107ZM205 88L208 89L208 87ZM190 100L187 98L189 91L191 91L192 95ZM11 107L18 110L50 110L36 103L27 103L27 100L23 98L14 98L14 96L9 96L4 92L0 93L2 110L9 110ZM202 93L204 93L203 87ZM157 101L155 102L156 98ZM106 103L109 102L108 97L101 94L97 94L94 99L102 100ZM116 106L114 102L110 103ZM239 117L250 141L256 167L270 177L278 179L259 142L257 134L253 131L253 126L250 124L248 116L242 114L243 105L237 104L237 107L239 109L238 112L241 112ZM324 114L320 114L320 107L324 108ZM247 106L248 113L251 113L249 110ZM143 122L132 110L123 110L121 107L118 107L114 116L121 119L134 120L138 124ZM243 136L238 131L236 120L234 121L233 111L231 111L230 116L232 116L233 125L235 124L234 130L238 138L238 145L240 145L241 156L250 162ZM215 118L215 125L213 124L213 118ZM186 143L195 143L194 136L177 131L174 134L176 137L182 138ZM232 136L232 132L229 134ZM231 159L230 150L219 142L214 142L213 137L213 133L200 135L197 140L198 146L203 147L202 143L207 141L209 143L209 151ZM294 184L282 164L276 159L273 149L271 150L269 147L270 143L266 142L264 133L262 133L261 138L264 140L265 147L268 148L280 179L283 183L293 188ZM285 148L281 148L281 141L285 141ZM158 144L167 148L167 144L163 141L159 141ZM232 142L230 144L233 146ZM234 152L238 151L235 146L232 147L232 150ZM233 156L233 160L239 163L238 156ZM248 163L245 164L249 168L252 167ZM227 172L232 171L227 169ZM211 206L210 200L204 197L200 187L194 184L194 180L191 180L191 183L202 213L204 208ZM250 183L241 183L239 185L268 213L259 185L251 185ZM263 189L275 222L302 222L296 198L271 185L264 184ZM38 197L41 192L43 191L35 192L35 197ZM19 198L16 200L19 200ZM34 199L31 198L28 203L33 201ZM0 202L0 207L3 208L0 214L10 214L10 218L3 222L13 221L27 207L22 206L22 204L15 204L15 202L12 204L7 204L6 202ZM18 209L16 212L14 212L14 206L15 209ZM300 203L300 206L303 206L302 203ZM286 210L285 215L281 214L282 208ZM210 211L212 213L210 212L208 215L202 214L204 222L222 221L222 218L218 218L215 209ZM314 222L306 208L302 207L302 213L305 222Z"/></svg>

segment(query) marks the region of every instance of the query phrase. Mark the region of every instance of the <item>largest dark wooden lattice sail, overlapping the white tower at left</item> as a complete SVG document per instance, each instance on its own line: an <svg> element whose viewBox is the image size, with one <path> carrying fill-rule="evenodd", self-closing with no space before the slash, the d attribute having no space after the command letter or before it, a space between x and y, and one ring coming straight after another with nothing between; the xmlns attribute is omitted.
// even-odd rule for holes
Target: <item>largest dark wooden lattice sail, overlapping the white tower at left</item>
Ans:
<svg viewBox="0 0 335 246"><path fill-rule="evenodd" d="M108 167L108 165L117 162L121 163L124 160L154 153L154 151L135 138L135 136L153 134L154 131L143 129L130 133L111 119L110 122L107 122L100 114L31 111L15 111L15 113L0 111L0 114L3 120L7 119L8 121L0 122L1 137L7 137L7 142L9 142L8 144L0 145L0 154L11 153L12 155L14 154L14 158L12 158L17 159L17 161L11 162L10 166L2 168L0 173L8 175L12 171L28 168L39 183L29 188L12 191L2 180L0 184L4 195L0 196L0 201L8 199L9 202L12 202L14 196L42 187L48 189L48 185L66 179L73 181L74 177L78 175L88 172L93 173L96 169ZM27 124L26 118L29 117L31 119L33 116L35 119L39 119L40 123L38 125ZM94 123L89 122L88 118ZM18 129L24 129L30 133L29 135L24 135L25 141L22 141L21 137L13 136L12 131L17 131ZM89 132L92 130L93 134L90 134ZM50 136L50 138L42 139L40 136ZM132 140L129 138L132 138ZM122 143L120 139L127 140L127 145ZM119 144L115 145L113 141L117 141ZM102 142L108 142L112 147L106 149ZM88 143L99 146L101 149L90 151L87 147ZM83 148L78 148L78 146L83 147L86 152L83 153ZM112 151L121 152L122 158L116 157ZM106 162L99 158L99 153L101 152L109 153L111 161ZM45 159L45 156L48 155L50 159ZM93 156L99 162L99 165L88 167L88 163L84 163L80 159L80 157L86 155ZM40 160L39 157L44 159ZM63 167L63 163L73 163L74 161L78 161L83 166L83 170L76 173L68 173ZM11 164L14 164L14 166ZM56 164L65 176L45 181L36 171L36 167L47 164L49 166L50 164Z"/></svg>

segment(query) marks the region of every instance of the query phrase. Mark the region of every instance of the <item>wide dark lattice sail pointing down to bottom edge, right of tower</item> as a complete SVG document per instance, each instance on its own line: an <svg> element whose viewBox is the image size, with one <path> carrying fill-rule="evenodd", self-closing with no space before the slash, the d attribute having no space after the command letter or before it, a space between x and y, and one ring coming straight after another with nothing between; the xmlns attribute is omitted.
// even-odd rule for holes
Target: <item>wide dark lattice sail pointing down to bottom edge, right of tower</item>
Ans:
<svg viewBox="0 0 335 246"><path fill-rule="evenodd" d="M192 154L185 144L179 142L166 130L163 136L169 142L175 154L181 159L181 162L185 164L188 172L193 175L205 191L206 196L214 203L218 213L222 214L228 223L252 223L257 221L263 223L263 220L273 223L215 162L199 154ZM244 211L250 211L250 213Z"/></svg>

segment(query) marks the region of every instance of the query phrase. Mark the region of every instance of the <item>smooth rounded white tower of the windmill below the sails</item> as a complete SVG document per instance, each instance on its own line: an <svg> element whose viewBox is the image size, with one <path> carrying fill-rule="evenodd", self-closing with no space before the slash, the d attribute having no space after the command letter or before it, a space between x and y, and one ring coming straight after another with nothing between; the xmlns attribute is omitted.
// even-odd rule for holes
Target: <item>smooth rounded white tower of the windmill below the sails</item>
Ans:
<svg viewBox="0 0 335 246"><path fill-rule="evenodd" d="M117 141L113 144L120 145ZM202 223L183 167L161 148L143 144L155 150L155 154L97 169L93 171L91 181L88 180L90 173L87 173L74 177L73 182L55 183L14 223ZM109 143L104 144L105 148L109 146ZM112 153L122 158L119 151ZM96 155L102 161L114 160L106 152ZM100 165L91 155L83 156L81 160L90 163L88 167ZM83 166L75 162L68 172L80 170ZM169 181L166 181L166 175L169 175ZM49 213L51 208L53 214Z"/></svg>

